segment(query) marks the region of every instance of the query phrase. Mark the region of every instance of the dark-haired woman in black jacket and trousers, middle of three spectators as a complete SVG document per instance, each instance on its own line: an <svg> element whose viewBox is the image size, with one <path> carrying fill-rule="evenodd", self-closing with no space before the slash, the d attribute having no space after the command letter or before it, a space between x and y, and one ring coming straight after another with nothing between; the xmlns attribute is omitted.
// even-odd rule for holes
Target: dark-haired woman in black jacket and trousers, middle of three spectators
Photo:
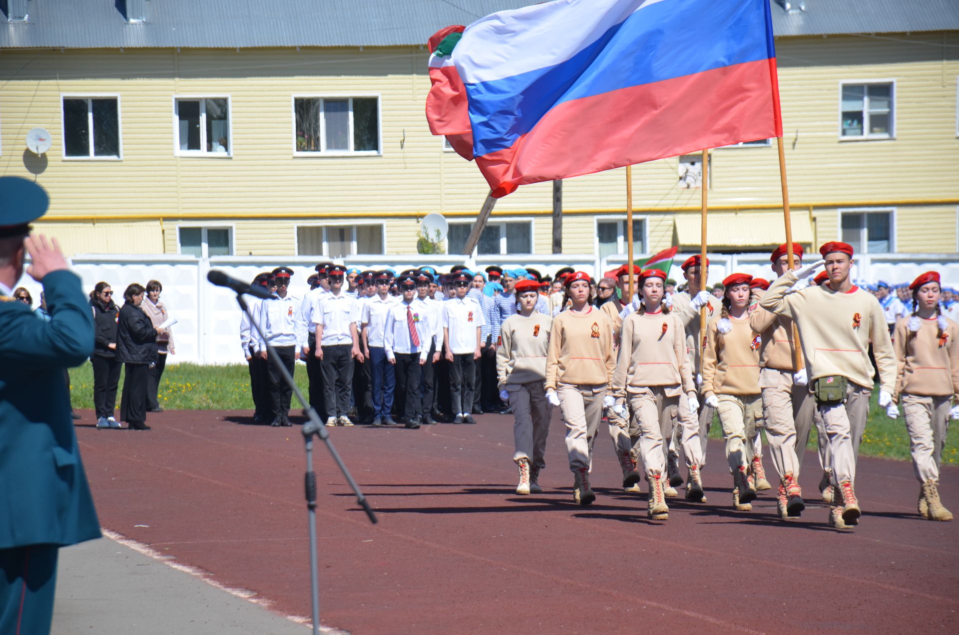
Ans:
<svg viewBox="0 0 959 635"><path fill-rule="evenodd" d="M124 365L123 397L120 418L130 430L150 430L147 425L147 380L150 365L156 363L156 334L150 317L141 309L146 290L133 283L123 296L117 325L117 361Z"/></svg>

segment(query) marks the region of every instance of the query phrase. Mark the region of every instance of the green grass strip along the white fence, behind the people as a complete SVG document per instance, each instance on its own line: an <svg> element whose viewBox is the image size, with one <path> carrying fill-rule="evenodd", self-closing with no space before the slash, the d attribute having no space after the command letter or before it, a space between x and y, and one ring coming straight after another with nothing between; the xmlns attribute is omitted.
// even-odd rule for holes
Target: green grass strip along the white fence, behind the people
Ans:
<svg viewBox="0 0 959 635"><path fill-rule="evenodd" d="M304 394L307 392L306 367L296 365L296 384ZM120 390L123 380L120 382ZM117 391L117 407L120 406L120 390ZM93 408L93 368L86 363L70 370L70 392L74 408ZM888 418L877 404L878 389L873 391L869 410L869 423L859 451L870 457L909 459L909 435L905 432L902 416L895 421ZM167 410L252 410L249 396L249 373L245 364L208 366L178 364L167 366L160 382L160 404ZM295 399L293 400L295 402ZM294 405L293 410L298 410ZM722 427L718 419L713 423L710 436L720 438ZM808 448L816 447L816 431L809 435ZM959 441L956 435L947 436L943 450L943 462L959 465Z"/></svg>

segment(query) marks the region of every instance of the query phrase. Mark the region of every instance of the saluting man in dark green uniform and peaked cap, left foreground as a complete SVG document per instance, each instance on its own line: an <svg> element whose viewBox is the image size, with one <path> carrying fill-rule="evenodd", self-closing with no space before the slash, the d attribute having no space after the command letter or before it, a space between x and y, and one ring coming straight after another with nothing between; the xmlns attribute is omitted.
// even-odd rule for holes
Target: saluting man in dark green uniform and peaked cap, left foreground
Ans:
<svg viewBox="0 0 959 635"><path fill-rule="evenodd" d="M46 193L0 176L0 633L50 632L60 547L100 537L63 369L93 352L80 278L55 240L30 234ZM28 235L29 234L29 235ZM46 294L37 319L11 288L27 268Z"/></svg>

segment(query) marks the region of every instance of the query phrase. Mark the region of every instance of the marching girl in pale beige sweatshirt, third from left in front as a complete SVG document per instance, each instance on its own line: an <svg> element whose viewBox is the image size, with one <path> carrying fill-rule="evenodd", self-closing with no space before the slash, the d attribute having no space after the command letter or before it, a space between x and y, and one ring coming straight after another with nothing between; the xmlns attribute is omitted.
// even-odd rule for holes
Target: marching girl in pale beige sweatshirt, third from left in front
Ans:
<svg viewBox="0 0 959 635"><path fill-rule="evenodd" d="M692 381L690 356L686 352L683 322L663 304L666 273L645 270L640 275L639 309L622 322L620 355L613 374L613 407L623 418L632 415L632 428L639 430L634 453L643 460L649 482L646 515L667 520L666 465L672 422L683 429L683 449L690 462L687 498L705 501L699 477L701 445L695 412L699 403Z"/></svg>

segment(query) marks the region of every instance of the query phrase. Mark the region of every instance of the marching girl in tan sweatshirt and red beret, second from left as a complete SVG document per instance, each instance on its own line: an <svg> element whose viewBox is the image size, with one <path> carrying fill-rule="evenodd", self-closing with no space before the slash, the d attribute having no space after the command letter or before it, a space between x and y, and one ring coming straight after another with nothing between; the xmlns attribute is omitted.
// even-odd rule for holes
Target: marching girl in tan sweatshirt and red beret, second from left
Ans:
<svg viewBox="0 0 959 635"><path fill-rule="evenodd" d="M612 408L607 388L613 379L613 324L590 304L590 276L576 271L566 278L563 306L552 320L546 362L546 395L566 424L566 450L573 472L573 501L590 505L593 442L603 408Z"/></svg>

